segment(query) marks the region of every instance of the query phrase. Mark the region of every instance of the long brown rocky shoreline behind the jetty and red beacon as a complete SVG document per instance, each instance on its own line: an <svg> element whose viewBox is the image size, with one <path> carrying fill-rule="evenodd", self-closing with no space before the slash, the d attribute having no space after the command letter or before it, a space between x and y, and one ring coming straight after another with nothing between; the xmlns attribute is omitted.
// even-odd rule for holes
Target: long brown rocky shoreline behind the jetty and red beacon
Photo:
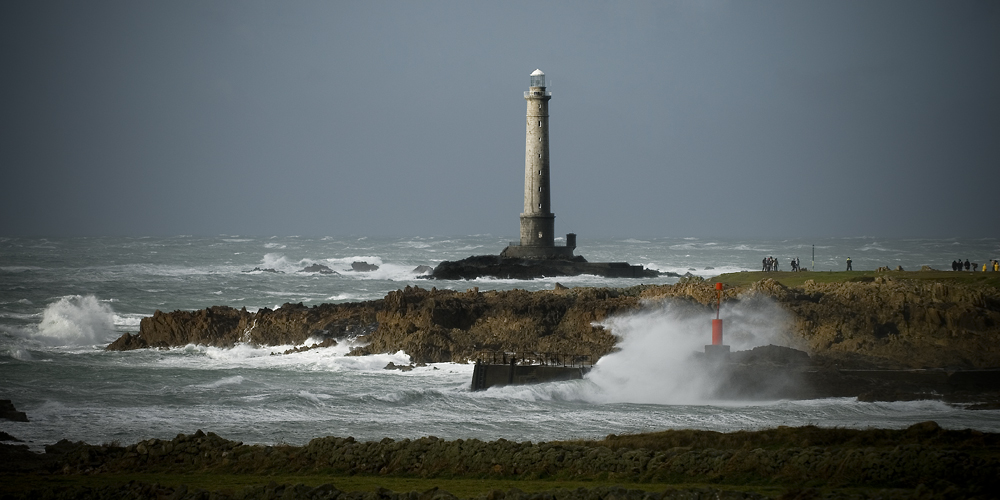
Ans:
<svg viewBox="0 0 1000 500"><path fill-rule="evenodd" d="M713 283L698 279L536 292L406 287L380 300L285 304L255 313L225 306L156 311L141 321L137 334L125 334L107 349L299 345L312 339L326 346L352 340L361 345L354 355L402 350L415 363L470 362L484 352L597 360L618 341L602 321L665 304L708 315L715 301ZM798 393L771 397L932 398L987 408L1000 403L1000 372L994 373L1000 367L996 287L889 277L786 287L763 279L725 290L724 305L740 303L751 309L776 305L771 313L785 317L787 345L808 353L806 363L794 366L762 359L731 370L730 378L744 385L767 377L808 382ZM886 376L882 370L898 373ZM977 370L972 382L986 383L954 375L969 370Z"/></svg>

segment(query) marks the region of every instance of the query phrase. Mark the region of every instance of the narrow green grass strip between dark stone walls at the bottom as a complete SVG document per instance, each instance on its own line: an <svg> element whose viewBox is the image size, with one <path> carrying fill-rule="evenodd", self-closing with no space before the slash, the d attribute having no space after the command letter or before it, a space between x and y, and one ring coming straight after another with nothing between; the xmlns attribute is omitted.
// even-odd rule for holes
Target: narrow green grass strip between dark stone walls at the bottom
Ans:
<svg viewBox="0 0 1000 500"><path fill-rule="evenodd" d="M138 481L147 484L177 487L187 485L188 488L198 488L208 491L234 493L248 486L265 486L271 482L291 486L305 484L319 486L333 484L341 491L375 491L386 488L396 492L427 491L440 488L459 498L470 498L488 494L493 490L507 491L517 488L527 493L554 489L597 488L600 486L621 486L626 489L644 491L664 491L666 489L715 488L721 490L753 491L762 495L777 496L787 488L782 486L746 486L726 484L701 483L630 483L614 480L567 481L544 479L442 479L442 478L412 478L389 476L339 476L325 474L309 475L251 475L251 474L217 474L217 473L187 473L187 474L92 474L92 475L3 475L0 474L0 496L3 494L22 494L31 490L62 487L99 488Z"/></svg>

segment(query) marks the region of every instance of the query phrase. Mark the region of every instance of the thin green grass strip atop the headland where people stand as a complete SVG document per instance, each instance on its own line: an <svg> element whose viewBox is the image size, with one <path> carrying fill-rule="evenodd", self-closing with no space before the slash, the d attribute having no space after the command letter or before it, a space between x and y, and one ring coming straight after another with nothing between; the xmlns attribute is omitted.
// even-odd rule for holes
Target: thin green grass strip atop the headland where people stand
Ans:
<svg viewBox="0 0 1000 500"><path fill-rule="evenodd" d="M966 272L966 271L778 271L778 272L742 272L720 274L709 278L710 282L722 282L727 287L745 286L757 281L771 278L788 287L801 287L806 281L816 283L841 283L848 281L872 281L878 276L886 276L899 280L939 281L963 285L980 285L1000 287L1000 273Z"/></svg>

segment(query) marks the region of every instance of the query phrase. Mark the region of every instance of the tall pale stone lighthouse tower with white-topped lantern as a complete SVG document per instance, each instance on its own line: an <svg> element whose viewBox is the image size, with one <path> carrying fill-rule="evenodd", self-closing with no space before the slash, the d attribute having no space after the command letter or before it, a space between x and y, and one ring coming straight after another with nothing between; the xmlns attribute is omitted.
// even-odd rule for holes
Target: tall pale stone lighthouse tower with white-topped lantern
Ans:
<svg viewBox="0 0 1000 500"><path fill-rule="evenodd" d="M521 241L511 243L501 256L527 259L571 258L576 235L566 235L566 246L555 246L555 214L549 198L549 100L545 73L531 73L524 134L524 211L521 213Z"/></svg>

